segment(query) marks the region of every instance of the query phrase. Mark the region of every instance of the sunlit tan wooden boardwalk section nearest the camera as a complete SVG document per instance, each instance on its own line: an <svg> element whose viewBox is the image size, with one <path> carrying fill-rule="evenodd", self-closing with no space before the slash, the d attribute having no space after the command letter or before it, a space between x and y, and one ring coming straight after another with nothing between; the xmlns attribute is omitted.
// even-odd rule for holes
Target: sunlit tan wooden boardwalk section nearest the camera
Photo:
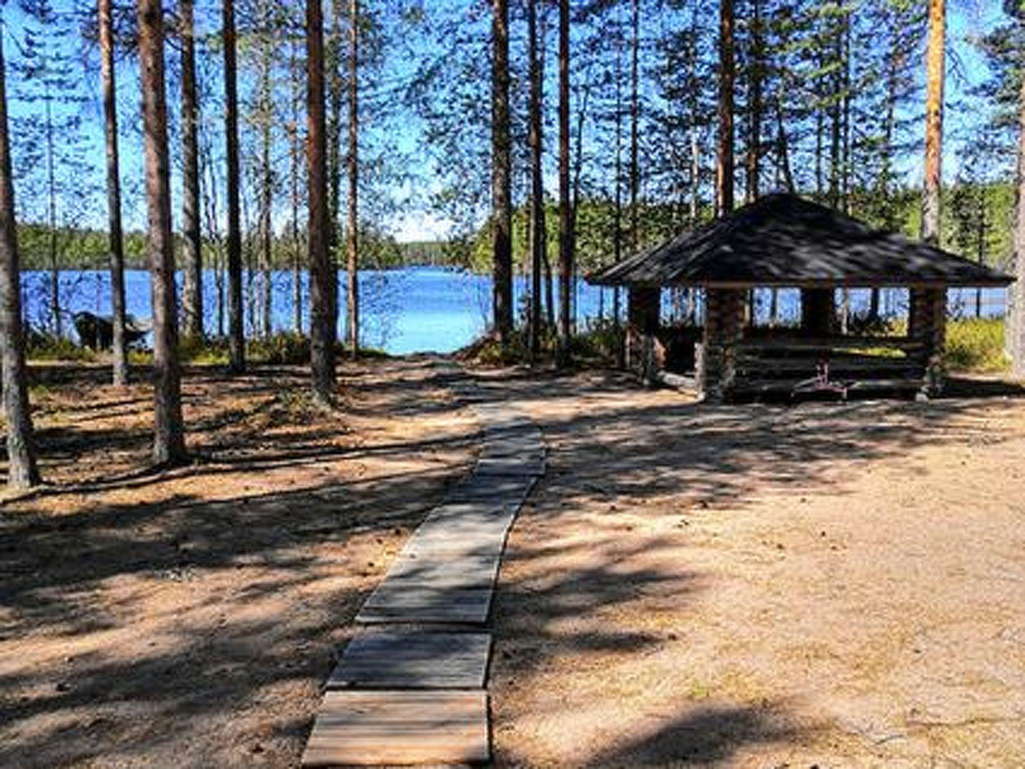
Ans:
<svg viewBox="0 0 1025 769"><path fill-rule="evenodd" d="M302 765L467 764L490 759L485 692L329 691Z"/></svg>

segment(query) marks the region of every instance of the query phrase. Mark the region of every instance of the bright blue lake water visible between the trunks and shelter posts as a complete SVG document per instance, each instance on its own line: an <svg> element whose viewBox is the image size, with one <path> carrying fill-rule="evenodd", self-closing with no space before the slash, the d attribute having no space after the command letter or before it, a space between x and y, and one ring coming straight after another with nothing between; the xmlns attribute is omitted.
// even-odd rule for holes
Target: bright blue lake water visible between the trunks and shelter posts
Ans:
<svg viewBox="0 0 1025 769"><path fill-rule="evenodd" d="M207 333L217 332L216 286L212 272L204 275L204 327ZM247 281L255 287L260 285L262 276L247 276ZM339 273L338 332L343 332L345 274ZM301 276L302 324L309 328L309 286L306 276ZM128 312L137 318L151 315L150 276L141 270L129 270L125 274L126 300ZM272 328L291 330L294 328L294 307L292 302L292 274L275 272L272 274L273 308ZM523 311L529 279L519 277L514 284L517 311ZM361 341L364 346L378 348L395 355L414 352L449 353L467 345L488 326L491 317L491 278L486 275L445 268L406 268L388 271L361 271ZM254 290L254 295L259 291ZM35 328L49 328L49 274L26 271L23 273L23 294L26 316ZM974 315L975 296L972 289L949 292L949 307L953 315ZM556 298L558 300L558 286ZM1003 314L1004 289L983 291L983 314L999 316ZM74 326L70 314L88 311L97 315L110 314L110 274L106 271L64 271L60 274L60 300L65 312L66 333L73 333ZM755 294L756 317L767 320L769 315L769 292L758 290ZM610 289L599 289L578 281L576 286L576 307L578 322L585 324L598 317L611 317L613 294ZM680 314L684 302L674 302L668 292L664 292L662 314L666 319ZM851 307L854 312L864 312L868 307L868 291L851 292ZM885 291L881 307L887 315L902 315L906 312L906 292ZM625 298L623 301L625 312ZM778 315L783 322L794 322L799 317L799 292L784 289L778 294ZM247 308L247 333L253 333L253 314ZM225 320L227 324L227 320ZM257 320L256 329L262 324Z"/></svg>

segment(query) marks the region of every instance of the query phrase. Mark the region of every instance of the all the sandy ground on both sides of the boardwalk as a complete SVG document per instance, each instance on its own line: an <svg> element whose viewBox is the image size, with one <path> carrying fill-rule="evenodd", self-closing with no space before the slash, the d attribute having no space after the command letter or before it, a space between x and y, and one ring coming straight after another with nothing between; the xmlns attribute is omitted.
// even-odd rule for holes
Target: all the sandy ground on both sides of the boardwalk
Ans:
<svg viewBox="0 0 1025 769"><path fill-rule="evenodd" d="M550 447L495 609L498 766L1025 765L1025 398L480 376ZM148 388L105 377L44 372L54 485L0 508L0 766L295 766L477 424L422 360L346 368L334 416L301 370L196 371L197 461L154 475Z"/></svg>

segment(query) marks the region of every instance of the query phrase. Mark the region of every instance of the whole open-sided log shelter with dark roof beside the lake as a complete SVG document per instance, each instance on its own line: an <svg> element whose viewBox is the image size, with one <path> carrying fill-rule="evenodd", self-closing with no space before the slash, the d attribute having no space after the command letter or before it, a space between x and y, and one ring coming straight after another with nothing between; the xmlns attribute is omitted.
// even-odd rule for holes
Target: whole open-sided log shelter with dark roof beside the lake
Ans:
<svg viewBox="0 0 1025 769"><path fill-rule="evenodd" d="M987 267L796 195L770 195L591 276L628 290L626 361L654 378L665 359L662 288L701 289L694 386L710 400L743 394L912 390L942 385L949 287L1006 286ZM754 288L799 288L797 328L754 328ZM908 289L905 335L840 334L838 288ZM684 372L681 372L684 373Z"/></svg>

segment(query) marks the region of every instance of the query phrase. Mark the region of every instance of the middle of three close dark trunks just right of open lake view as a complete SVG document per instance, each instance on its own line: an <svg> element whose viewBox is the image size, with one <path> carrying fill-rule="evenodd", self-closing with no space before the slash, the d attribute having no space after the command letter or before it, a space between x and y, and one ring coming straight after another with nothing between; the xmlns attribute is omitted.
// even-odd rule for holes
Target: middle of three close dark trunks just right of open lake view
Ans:
<svg viewBox="0 0 1025 769"><path fill-rule="evenodd" d="M527 0L527 45L530 58L530 359L537 360L541 348L541 266L547 241L544 222L541 112L544 87L543 62L538 55L537 3Z"/></svg>

